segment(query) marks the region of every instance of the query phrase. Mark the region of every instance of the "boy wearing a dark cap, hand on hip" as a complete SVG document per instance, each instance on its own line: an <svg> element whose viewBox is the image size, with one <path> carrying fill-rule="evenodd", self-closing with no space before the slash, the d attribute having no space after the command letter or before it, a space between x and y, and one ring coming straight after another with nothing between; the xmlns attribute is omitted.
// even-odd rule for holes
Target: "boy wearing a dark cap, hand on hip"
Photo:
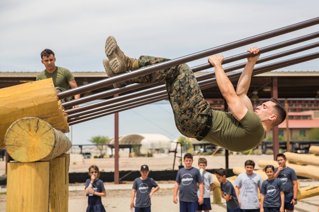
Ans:
<svg viewBox="0 0 319 212"><path fill-rule="evenodd" d="M140 173L141 177L136 178L133 183L130 208L133 210L135 207L135 212L151 212L152 194L159 190L159 186L153 178L147 177L150 173L147 165L141 166ZM154 187L153 190L152 187ZM136 201L134 206L135 193Z"/></svg>

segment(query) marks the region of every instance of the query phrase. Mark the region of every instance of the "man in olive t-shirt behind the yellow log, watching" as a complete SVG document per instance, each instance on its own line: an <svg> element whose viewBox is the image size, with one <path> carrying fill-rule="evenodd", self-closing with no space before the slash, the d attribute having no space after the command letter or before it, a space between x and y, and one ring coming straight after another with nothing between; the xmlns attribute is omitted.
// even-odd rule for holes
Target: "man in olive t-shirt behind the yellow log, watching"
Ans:
<svg viewBox="0 0 319 212"><path fill-rule="evenodd" d="M55 61L56 58L52 50L44 49L41 52L41 62L45 66L45 69L37 75L37 81L52 78L57 93L68 90L70 88L77 88L78 85L70 70L62 67L57 67L55 65ZM78 98L80 98L79 94L74 95L74 99ZM72 97L65 98L61 101L67 102L70 100L72 100ZM73 106L73 108L77 107L78 105Z"/></svg>

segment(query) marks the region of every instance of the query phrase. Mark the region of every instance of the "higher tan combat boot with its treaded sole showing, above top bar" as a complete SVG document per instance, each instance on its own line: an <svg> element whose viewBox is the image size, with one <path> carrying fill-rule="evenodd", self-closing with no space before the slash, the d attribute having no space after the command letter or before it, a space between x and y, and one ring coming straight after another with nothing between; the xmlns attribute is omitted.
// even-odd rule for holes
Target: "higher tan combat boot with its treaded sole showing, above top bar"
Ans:
<svg viewBox="0 0 319 212"><path fill-rule="evenodd" d="M133 71L139 68L138 61L126 56L117 45L113 36L109 36L106 39L105 54L114 73Z"/></svg>

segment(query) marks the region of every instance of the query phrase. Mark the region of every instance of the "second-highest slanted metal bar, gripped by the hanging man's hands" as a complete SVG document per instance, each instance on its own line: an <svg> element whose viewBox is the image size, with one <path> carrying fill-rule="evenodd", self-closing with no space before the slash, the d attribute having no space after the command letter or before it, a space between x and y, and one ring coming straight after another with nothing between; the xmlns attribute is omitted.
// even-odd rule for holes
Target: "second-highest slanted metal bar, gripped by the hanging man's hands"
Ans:
<svg viewBox="0 0 319 212"><path fill-rule="evenodd" d="M290 40L287 40L287 41L276 43L276 44L273 44L273 45L270 45L270 46L262 47L262 48L259 49L259 51L260 51L260 54L261 53L266 53L266 52L270 52L270 51L273 51L273 50L276 50L276 49L279 49L279 48L283 48L283 47L286 47L286 46L290 46L290 45L294 45L294 44L297 44L297 43L301 43L301 42L304 42L304 41L307 41L307 40L310 40L310 39L315 39L315 38L318 38L318 37L319 37L319 32L314 32L314 33L311 33L311 34L308 34L308 35L304 35L304 36L301 36L301 37L298 37L298 38L294 38L294 39L290 39ZM246 52L246 53L237 54L237 55L234 55L234 56L231 56L231 57L227 57L227 58L225 58L223 64L247 58L247 57L249 57L249 55L250 55L250 53ZM205 63L205 64L202 64L202 65L198 65L198 66L192 67L191 69L192 69L193 72L197 72L197 71L202 71L202 70L205 70L205 69L208 69L208 68L211 68L211 67L212 67L212 65L210 63ZM98 94L85 96L85 97L82 97L82 98L79 98L79 99L75 99L75 100L72 100L72 101L69 101L69 102L64 102L64 103L62 103L62 106L64 108L70 108L70 107L75 106L75 105L83 104L83 103L86 103L86 102L91 102L91 101L97 100L97 99L102 99L102 98L105 98L105 97L108 97L108 96L111 96L111 95L114 95L114 94L117 94L117 93L123 93L123 92L130 91L130 90L133 90L133 89L142 88L142 87L145 87L145 86L151 85L151 84L154 84L154 83L145 83L145 82L144 83L134 83L134 84L130 84L130 85L127 85L125 87L122 87L122 88L114 88L114 89L111 89L111 90L108 90L108 91L100 92Z"/></svg>

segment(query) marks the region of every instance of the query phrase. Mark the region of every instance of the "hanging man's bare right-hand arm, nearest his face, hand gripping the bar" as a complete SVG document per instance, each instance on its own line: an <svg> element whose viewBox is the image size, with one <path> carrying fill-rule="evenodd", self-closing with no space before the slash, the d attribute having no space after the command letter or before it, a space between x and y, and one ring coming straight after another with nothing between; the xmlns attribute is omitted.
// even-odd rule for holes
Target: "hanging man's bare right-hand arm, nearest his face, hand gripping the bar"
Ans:
<svg viewBox="0 0 319 212"><path fill-rule="evenodd" d="M253 47L247 50L250 53L257 54L259 52L258 47ZM250 85L251 74L253 72L256 61L258 60L260 55L252 56L247 58L248 62L241 73L241 76L237 83L236 94L241 99L241 101L246 105L248 110L253 111L253 106L251 104L250 99L247 96L247 92Z"/></svg>

